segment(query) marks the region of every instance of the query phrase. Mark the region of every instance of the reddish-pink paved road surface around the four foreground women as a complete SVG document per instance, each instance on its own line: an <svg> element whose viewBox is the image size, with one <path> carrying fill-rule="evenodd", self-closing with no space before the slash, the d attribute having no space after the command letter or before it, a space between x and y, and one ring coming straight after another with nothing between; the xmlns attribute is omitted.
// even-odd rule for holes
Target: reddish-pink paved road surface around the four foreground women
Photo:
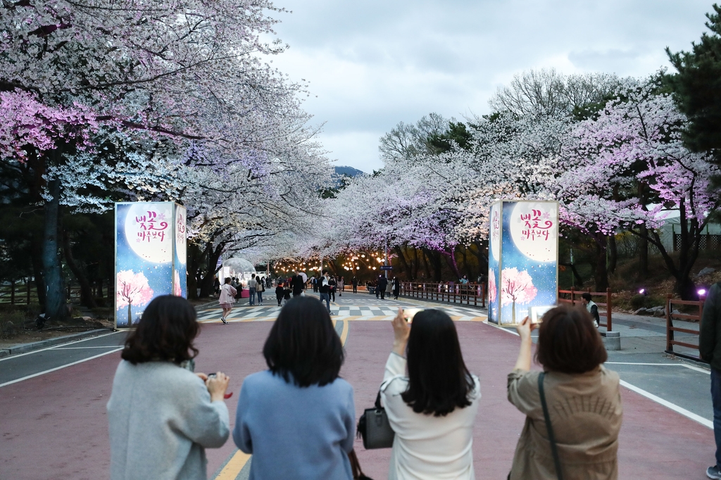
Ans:
<svg viewBox="0 0 721 480"><path fill-rule="evenodd" d="M464 356L482 383L474 437L478 479L505 479L523 416L505 399L517 337L492 326L458 322ZM270 322L207 324L198 338L199 371L221 369L232 377L234 418L245 375L265 368L260 354ZM354 321L342 375L355 387L357 414L371 406L383 375L392 332L389 322ZM31 357L29 355L28 357ZM111 354L0 388L0 479L105 479L108 441L105 403L119 354ZM712 431L622 388L624 424L619 453L621 479L704 479L713 461ZM232 440L208 450L208 473L232 453ZM356 450L366 474L383 479L390 450Z"/></svg>

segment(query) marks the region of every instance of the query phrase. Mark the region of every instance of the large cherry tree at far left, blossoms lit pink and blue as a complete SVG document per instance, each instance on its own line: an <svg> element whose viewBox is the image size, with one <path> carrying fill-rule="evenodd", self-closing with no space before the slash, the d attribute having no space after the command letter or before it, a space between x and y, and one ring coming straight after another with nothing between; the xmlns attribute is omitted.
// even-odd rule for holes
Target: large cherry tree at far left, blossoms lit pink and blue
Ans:
<svg viewBox="0 0 721 480"><path fill-rule="evenodd" d="M61 205L179 200L188 168L239 165L251 179L304 158L304 87L260 59L283 51L261 39L278 11L265 0L0 6L0 158L29 169L45 203L46 314L66 314Z"/></svg>

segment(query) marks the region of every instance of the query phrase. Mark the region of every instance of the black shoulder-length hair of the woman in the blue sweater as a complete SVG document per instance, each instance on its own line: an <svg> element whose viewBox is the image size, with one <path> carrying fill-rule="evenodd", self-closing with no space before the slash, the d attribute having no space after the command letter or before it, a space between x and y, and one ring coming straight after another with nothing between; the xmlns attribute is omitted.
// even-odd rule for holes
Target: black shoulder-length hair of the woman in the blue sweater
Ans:
<svg viewBox="0 0 721 480"><path fill-rule="evenodd" d="M317 298L304 296L280 311L263 356L271 372L301 387L332 383L345 358L328 311Z"/></svg>

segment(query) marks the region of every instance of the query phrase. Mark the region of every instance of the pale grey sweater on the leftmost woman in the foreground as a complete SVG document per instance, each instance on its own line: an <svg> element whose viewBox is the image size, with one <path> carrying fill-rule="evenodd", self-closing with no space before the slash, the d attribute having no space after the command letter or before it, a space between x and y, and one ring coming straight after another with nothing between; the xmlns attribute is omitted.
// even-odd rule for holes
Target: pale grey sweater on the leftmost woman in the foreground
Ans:
<svg viewBox="0 0 721 480"><path fill-rule="evenodd" d="M225 402L211 402L197 375L169 362L122 360L107 418L112 480L205 480L205 448L230 432Z"/></svg>

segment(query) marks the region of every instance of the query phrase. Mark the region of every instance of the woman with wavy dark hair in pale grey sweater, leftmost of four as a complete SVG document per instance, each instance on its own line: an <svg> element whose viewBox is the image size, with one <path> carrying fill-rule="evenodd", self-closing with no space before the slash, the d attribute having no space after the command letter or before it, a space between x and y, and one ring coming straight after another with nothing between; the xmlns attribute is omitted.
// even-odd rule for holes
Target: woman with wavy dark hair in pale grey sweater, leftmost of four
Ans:
<svg viewBox="0 0 721 480"><path fill-rule="evenodd" d="M107 402L112 480L207 478L205 448L230 433L229 378L193 373L196 335L195 308L163 295L125 341Z"/></svg>

